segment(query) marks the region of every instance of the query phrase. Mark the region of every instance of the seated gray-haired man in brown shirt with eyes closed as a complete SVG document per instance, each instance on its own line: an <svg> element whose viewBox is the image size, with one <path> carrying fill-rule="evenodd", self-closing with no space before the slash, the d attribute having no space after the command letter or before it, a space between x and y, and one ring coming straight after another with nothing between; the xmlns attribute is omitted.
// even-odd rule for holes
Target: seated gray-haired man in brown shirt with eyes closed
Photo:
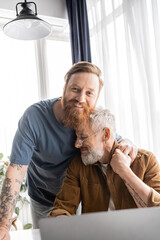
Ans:
<svg viewBox="0 0 160 240"><path fill-rule="evenodd" d="M70 163L49 216L160 206L160 166L139 149L134 161L117 148L115 118L96 109L76 131L80 154Z"/></svg>

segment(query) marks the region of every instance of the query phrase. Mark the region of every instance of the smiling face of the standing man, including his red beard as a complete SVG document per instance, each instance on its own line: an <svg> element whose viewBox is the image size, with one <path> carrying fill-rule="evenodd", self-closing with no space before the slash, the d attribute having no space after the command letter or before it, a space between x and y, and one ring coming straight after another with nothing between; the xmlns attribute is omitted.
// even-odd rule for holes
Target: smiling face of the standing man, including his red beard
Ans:
<svg viewBox="0 0 160 240"><path fill-rule="evenodd" d="M80 127L94 110L99 93L99 79L88 72L74 73L64 88L62 123L74 129Z"/></svg>

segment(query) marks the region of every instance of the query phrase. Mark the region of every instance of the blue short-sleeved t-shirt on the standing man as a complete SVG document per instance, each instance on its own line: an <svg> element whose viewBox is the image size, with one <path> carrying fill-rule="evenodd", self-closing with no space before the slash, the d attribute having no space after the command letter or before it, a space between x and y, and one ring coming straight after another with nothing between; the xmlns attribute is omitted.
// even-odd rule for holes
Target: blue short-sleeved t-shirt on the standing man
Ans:
<svg viewBox="0 0 160 240"><path fill-rule="evenodd" d="M24 112L10 157L12 163L29 165L28 194L46 206L53 206L68 164L78 152L75 132L55 118L53 104L57 100L41 101Z"/></svg>

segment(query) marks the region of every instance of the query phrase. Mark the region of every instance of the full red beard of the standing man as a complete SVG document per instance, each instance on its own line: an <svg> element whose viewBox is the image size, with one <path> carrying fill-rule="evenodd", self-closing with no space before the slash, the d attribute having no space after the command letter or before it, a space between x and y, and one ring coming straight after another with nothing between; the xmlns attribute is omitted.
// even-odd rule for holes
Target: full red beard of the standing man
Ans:
<svg viewBox="0 0 160 240"><path fill-rule="evenodd" d="M75 109L75 104L81 105L83 110ZM86 103L79 103L76 100L66 102L65 99L63 99L63 107L64 117L62 119L62 124L75 130L84 126L89 118L89 115L93 112L93 109L89 108Z"/></svg>

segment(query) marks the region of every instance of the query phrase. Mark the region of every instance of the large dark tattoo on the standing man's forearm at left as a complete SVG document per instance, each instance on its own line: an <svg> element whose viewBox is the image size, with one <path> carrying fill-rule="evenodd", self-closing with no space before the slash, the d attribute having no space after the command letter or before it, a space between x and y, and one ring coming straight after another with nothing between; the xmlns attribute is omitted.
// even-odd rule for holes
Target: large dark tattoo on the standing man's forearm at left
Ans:
<svg viewBox="0 0 160 240"><path fill-rule="evenodd" d="M16 206L18 193L15 192L14 195L12 194L11 183L12 181L10 178L5 178L0 196L0 222L2 222L3 220L7 220L9 214L13 212ZM10 228L10 224L11 219L9 219L9 224L6 224L8 229Z"/></svg>

